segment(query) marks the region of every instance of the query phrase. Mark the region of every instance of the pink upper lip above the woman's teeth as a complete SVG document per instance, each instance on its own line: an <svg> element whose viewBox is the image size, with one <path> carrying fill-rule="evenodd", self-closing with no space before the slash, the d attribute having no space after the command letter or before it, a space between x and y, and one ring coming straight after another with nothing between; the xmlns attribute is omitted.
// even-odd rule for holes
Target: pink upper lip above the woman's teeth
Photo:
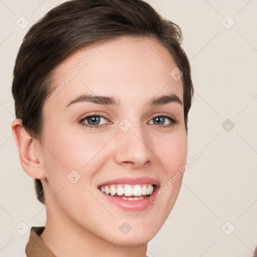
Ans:
<svg viewBox="0 0 257 257"><path fill-rule="evenodd" d="M108 184L130 184L130 185L137 185L137 184L146 184L150 183L156 186L159 186L160 183L158 180L151 178L151 177L139 177L139 178L132 178L132 177L122 177L118 179L108 180L98 184L97 187L102 185Z"/></svg>

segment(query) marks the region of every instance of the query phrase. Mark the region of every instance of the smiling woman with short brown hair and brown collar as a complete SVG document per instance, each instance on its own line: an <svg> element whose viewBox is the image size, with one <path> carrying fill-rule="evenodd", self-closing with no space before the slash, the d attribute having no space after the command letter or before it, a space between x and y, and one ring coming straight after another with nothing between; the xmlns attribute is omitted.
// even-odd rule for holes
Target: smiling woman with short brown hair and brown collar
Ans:
<svg viewBox="0 0 257 257"><path fill-rule="evenodd" d="M181 42L141 0L69 1L29 30L12 129L47 220L32 227L28 257L146 256L187 160L193 85Z"/></svg>

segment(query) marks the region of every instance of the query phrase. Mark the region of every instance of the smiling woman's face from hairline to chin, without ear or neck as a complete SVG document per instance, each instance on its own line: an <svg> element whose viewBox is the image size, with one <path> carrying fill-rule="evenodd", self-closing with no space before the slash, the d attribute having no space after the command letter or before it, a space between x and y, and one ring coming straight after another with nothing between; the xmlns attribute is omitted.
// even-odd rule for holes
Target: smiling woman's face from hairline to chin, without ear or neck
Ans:
<svg viewBox="0 0 257 257"><path fill-rule="evenodd" d="M183 175L171 179L187 159L174 68L159 43L129 37L79 50L57 67L43 108L48 218L120 245L156 235Z"/></svg>

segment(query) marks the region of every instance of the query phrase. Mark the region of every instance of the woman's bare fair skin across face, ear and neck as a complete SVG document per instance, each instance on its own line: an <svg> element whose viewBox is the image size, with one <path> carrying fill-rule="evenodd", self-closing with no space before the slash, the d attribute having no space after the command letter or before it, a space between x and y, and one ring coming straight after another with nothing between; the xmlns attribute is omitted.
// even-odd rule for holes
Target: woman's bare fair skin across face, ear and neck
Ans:
<svg viewBox="0 0 257 257"><path fill-rule="evenodd" d="M97 185L149 176L162 187L186 163L183 106L177 102L146 105L154 96L171 93L183 102L183 82L170 76L176 63L158 42L119 37L74 53L57 67L53 86L96 48L99 53L90 63L52 100L45 100L43 142L31 138L20 119L12 125L15 140L23 169L43 183L47 220L40 237L54 254L145 257L148 242L177 200L183 176L143 211L113 205L100 197ZM112 96L120 106L79 102L65 107L86 93ZM101 127L90 129L78 122L92 112L107 117L101 119ZM178 122L169 127L154 123L153 117L161 114ZM132 124L127 132L118 126L123 118ZM171 121L166 119L165 124ZM72 170L80 175L75 184L67 179ZM123 222L132 227L126 235L118 229Z"/></svg>

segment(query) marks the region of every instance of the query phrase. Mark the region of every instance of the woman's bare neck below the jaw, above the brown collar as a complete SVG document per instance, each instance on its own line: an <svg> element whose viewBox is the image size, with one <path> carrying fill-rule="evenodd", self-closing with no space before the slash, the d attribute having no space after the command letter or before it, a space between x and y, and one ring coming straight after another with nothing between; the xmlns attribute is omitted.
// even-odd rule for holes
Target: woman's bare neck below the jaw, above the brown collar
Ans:
<svg viewBox="0 0 257 257"><path fill-rule="evenodd" d="M145 257L147 243L133 246L115 244L115 237L104 240L82 227L63 213L52 201L51 211L47 208L47 220L40 238L58 257ZM56 203L56 202L55 202ZM50 204L49 204L50 205ZM103 231L106 233L106 231Z"/></svg>

